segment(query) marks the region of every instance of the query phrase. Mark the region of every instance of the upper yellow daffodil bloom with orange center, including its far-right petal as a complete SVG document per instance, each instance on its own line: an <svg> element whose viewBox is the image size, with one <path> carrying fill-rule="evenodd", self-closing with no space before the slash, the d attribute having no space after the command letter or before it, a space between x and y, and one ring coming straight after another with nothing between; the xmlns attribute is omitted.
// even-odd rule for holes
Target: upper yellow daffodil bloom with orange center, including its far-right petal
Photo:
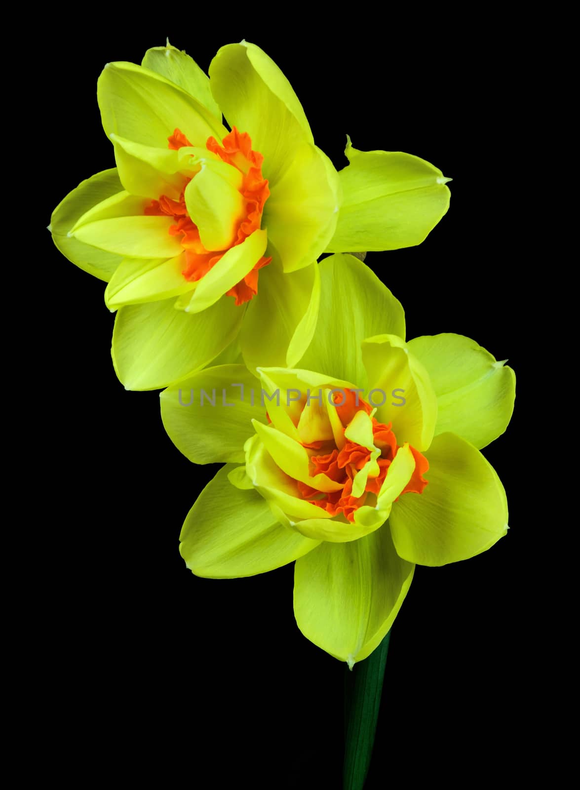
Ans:
<svg viewBox="0 0 580 790"><path fill-rule="evenodd" d="M418 244L449 205L448 179L409 154L348 141L338 174L254 44L222 47L209 77L169 43L141 66L108 63L97 98L116 167L73 190L50 227L67 258L108 283L127 389L167 386L236 338L254 370L296 365L318 313L320 254Z"/></svg>

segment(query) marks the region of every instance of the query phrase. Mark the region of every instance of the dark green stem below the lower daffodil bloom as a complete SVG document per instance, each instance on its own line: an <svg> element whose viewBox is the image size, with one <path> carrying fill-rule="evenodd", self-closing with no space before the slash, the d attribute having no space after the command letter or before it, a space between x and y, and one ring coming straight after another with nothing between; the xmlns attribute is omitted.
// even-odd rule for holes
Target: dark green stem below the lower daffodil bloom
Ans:
<svg viewBox="0 0 580 790"><path fill-rule="evenodd" d="M363 790L371 764L390 631L368 658L345 672L344 790Z"/></svg>

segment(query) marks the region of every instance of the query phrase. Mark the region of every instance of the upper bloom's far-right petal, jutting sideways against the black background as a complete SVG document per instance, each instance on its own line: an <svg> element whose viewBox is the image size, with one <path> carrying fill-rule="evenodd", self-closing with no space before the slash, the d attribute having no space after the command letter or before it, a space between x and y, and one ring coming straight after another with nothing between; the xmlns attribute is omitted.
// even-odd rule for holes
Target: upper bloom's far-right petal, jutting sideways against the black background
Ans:
<svg viewBox="0 0 580 790"><path fill-rule="evenodd" d="M357 151L340 172L343 201L327 252L398 250L420 244L449 208L443 173L418 156Z"/></svg>

